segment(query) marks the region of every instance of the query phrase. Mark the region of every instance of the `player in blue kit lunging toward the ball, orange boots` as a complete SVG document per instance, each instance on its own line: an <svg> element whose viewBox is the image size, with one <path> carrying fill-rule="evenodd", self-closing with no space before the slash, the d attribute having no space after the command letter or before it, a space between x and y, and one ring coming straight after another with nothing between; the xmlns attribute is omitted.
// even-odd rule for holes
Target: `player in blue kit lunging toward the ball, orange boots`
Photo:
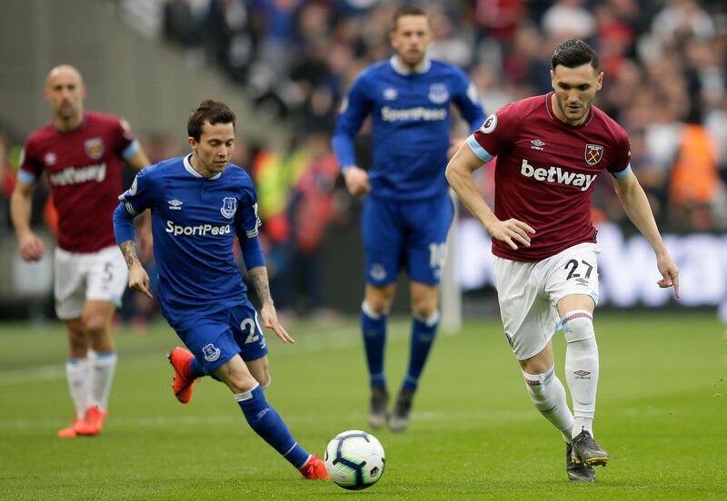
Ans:
<svg viewBox="0 0 727 501"><path fill-rule="evenodd" d="M119 197L114 230L129 287L151 298L149 276L134 251L133 225L137 214L150 209L162 312L189 349L169 354L174 395L187 403L196 378L223 381L260 437L306 478L328 478L323 461L298 445L263 393L270 384L268 350L234 262L235 235L262 303L260 319L283 342L294 339L278 322L270 297L253 182L243 169L228 168L234 113L224 103L204 101L190 115L187 131L191 154L144 169Z"/></svg>

